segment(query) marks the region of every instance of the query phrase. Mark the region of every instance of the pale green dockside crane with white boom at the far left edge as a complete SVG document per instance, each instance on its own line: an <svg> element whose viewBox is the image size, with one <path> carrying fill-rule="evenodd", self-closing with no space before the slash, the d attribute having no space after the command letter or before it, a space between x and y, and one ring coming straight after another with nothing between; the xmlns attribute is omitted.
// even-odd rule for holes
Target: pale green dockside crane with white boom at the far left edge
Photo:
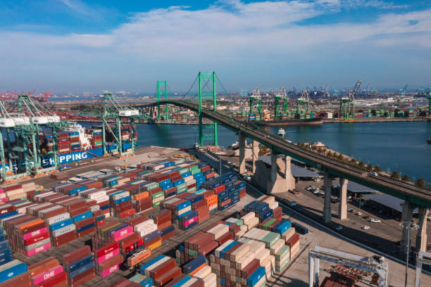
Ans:
<svg viewBox="0 0 431 287"><path fill-rule="evenodd" d="M4 181L39 176L58 167L57 131L68 127L68 122L52 114L35 101L30 94L20 94L7 108L1 105L0 129L6 135L8 166L4 141L0 136L1 176ZM51 132L53 150L46 152L40 147L41 135ZM0 133L1 134L1 133ZM42 158L54 155L51 166L42 168ZM6 172L6 169L10 170ZM13 176L13 172L15 176Z"/></svg>

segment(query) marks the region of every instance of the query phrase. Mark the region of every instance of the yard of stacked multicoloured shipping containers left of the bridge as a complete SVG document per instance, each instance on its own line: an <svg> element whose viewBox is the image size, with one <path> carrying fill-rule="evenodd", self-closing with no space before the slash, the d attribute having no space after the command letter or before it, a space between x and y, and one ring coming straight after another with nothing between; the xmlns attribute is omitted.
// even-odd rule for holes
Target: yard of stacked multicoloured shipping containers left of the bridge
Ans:
<svg viewBox="0 0 431 287"><path fill-rule="evenodd" d="M306 282L296 261L311 238L274 198L186 157L146 148L121 172L110 160L72 170L70 182L39 179L49 188L1 186L0 270L13 275L0 286L275 286L292 268ZM322 273L325 284L346 281Z"/></svg>

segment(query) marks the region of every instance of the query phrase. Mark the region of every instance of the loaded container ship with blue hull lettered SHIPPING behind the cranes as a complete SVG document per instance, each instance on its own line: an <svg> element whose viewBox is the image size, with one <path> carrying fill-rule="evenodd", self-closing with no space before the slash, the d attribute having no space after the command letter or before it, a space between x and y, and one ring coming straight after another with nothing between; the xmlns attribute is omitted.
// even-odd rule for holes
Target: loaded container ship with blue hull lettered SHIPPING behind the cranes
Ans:
<svg viewBox="0 0 431 287"><path fill-rule="evenodd" d="M115 131L115 126L110 127L112 131ZM110 129L105 130L106 136L106 153L118 153L117 146L113 144L114 136L111 134ZM14 140L14 139L13 139ZM123 152L132 151L132 132L130 125L121 125L121 141ZM135 131L135 144L137 143L137 132ZM78 162L81 160L87 160L89 158L97 158L104 156L101 127L85 128L78 123L70 123L70 126L62 132L58 132L56 146L58 149L58 164L65 165L71 162ZM16 153L24 152L22 148L15 148L16 141L11 141L8 145L6 140L4 141L5 147L5 161L6 170L10 170L8 164L8 146L13 151L11 158L16 158ZM33 150L32 144L29 144L28 148L30 151ZM54 165L54 139L49 131L39 132L39 154L41 155L41 166L42 168L51 167ZM23 158L23 157L18 157ZM16 167L18 162L14 160L13 166ZM34 165L34 162L29 162L30 167ZM25 169L25 162L20 162L19 170Z"/></svg>

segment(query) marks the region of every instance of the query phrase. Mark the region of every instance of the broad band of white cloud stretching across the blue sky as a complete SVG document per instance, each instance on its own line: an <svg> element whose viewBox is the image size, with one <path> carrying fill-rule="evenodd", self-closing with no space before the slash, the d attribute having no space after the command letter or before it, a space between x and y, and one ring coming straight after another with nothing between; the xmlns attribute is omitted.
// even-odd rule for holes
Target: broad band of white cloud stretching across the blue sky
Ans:
<svg viewBox="0 0 431 287"><path fill-rule="evenodd" d="M77 3L61 1L71 8ZM127 23L106 34L0 32L3 39L0 58L5 63L0 72L10 74L15 69L16 75L20 75L23 68L15 68L13 63L23 62L26 67L34 65L42 74L44 68L49 72L69 69L67 73L71 73L76 69L76 72L85 73L95 65L115 65L115 68L124 67L125 70L127 65L133 65L135 70L137 67L157 70L158 66L230 67L249 65L254 61L303 61L304 69L311 69L331 51L338 53L333 56L349 58L358 51L378 54L385 53L388 48L412 49L414 45L414 49L427 53L431 48L431 10L386 13L374 23L298 24L337 11L349 2L350 5L362 3L385 9L392 5L374 0L261 1L250 4L223 0L197 11L173 6L136 13ZM411 25L412 20L417 23ZM38 66L41 63L44 63L43 67Z"/></svg>

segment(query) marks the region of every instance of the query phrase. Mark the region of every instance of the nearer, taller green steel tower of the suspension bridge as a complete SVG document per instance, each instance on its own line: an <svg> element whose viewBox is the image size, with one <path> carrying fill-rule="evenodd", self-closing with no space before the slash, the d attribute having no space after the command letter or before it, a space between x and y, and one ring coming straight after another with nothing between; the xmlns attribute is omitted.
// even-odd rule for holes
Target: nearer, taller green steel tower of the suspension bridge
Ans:
<svg viewBox="0 0 431 287"><path fill-rule="evenodd" d="M215 72L199 72L198 74L198 84L199 84L199 146L204 146L205 140L213 140L213 145L218 145L217 139L217 122L213 121L210 125L204 125L202 122L202 100L204 98L210 98L210 103L208 103L208 108L211 107L214 111L217 110L217 92L215 90ZM212 89L211 84L212 83ZM204 129L213 129L212 134L204 134Z"/></svg>

